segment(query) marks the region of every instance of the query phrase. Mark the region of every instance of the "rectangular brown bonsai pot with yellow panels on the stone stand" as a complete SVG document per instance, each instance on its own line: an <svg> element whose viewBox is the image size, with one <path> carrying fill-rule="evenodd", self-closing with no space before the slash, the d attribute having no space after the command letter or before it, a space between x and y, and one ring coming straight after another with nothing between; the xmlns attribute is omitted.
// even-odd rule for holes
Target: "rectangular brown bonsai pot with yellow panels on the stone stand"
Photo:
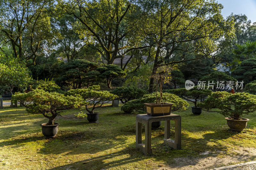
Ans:
<svg viewBox="0 0 256 170"><path fill-rule="evenodd" d="M147 115L158 116L158 115L170 115L172 110L172 103L144 103L146 106Z"/></svg>

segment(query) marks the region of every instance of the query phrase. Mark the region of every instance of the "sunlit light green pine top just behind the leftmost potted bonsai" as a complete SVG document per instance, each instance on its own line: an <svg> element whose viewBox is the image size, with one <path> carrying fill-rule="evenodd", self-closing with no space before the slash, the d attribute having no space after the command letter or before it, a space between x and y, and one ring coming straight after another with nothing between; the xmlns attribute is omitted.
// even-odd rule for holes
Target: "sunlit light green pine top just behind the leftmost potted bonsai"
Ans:
<svg viewBox="0 0 256 170"><path fill-rule="evenodd" d="M53 80L39 80L32 85L32 89L42 89L46 92L58 92L63 93L58 85Z"/></svg>

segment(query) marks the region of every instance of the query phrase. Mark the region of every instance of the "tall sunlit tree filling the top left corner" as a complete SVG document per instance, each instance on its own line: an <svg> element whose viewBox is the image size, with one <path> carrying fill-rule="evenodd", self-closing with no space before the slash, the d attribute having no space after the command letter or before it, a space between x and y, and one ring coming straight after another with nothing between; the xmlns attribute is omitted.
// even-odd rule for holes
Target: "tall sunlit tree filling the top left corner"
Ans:
<svg viewBox="0 0 256 170"><path fill-rule="evenodd" d="M50 0L1 0L0 31L5 42L10 43L14 56L35 64L43 52L44 40L51 39L48 7Z"/></svg>

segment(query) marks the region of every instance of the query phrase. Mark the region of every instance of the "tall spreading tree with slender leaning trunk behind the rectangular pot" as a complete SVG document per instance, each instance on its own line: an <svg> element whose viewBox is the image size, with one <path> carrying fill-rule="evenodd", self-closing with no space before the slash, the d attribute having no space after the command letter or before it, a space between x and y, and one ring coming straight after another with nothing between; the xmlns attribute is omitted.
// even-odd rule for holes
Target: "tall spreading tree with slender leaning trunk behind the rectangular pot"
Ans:
<svg viewBox="0 0 256 170"><path fill-rule="evenodd" d="M173 65L210 56L217 50L216 41L230 36L232 19L223 19L223 6L215 1L141 1L140 35L156 43L156 55L152 75L159 66ZM175 58L174 52L180 53ZM186 58L194 53L195 58ZM150 78L149 92L154 89Z"/></svg>

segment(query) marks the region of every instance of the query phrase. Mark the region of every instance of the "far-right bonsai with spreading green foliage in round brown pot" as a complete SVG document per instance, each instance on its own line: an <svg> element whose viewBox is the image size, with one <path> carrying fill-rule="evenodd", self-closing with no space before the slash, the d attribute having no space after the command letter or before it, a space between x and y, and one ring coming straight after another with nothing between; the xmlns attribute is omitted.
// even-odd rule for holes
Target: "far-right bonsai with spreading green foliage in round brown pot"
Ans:
<svg viewBox="0 0 256 170"><path fill-rule="evenodd" d="M228 127L231 130L242 131L249 119L243 118L249 113L256 111L256 95L249 93L228 93L214 92L204 103L198 103L198 106L207 112L217 112L227 116ZM212 110L212 106L219 110Z"/></svg>

